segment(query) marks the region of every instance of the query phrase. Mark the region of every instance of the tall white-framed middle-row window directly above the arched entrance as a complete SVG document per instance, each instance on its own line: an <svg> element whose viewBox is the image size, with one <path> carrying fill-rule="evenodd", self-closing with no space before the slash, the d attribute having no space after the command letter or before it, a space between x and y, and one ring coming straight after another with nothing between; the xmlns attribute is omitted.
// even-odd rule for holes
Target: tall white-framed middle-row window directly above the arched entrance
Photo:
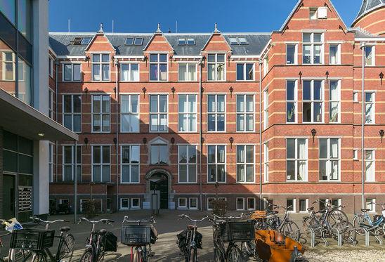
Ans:
<svg viewBox="0 0 385 262"><path fill-rule="evenodd" d="M167 95L150 95L150 131L167 132Z"/></svg>

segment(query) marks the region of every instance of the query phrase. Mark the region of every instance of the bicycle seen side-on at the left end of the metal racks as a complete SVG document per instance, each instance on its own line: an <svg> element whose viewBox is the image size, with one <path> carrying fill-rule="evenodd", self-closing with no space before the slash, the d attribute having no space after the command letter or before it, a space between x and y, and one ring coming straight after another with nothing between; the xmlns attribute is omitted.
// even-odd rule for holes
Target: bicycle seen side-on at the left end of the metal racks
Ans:
<svg viewBox="0 0 385 262"><path fill-rule="evenodd" d="M336 235L337 230L344 233L348 229L349 221L348 216L341 210L345 206L334 206L330 201L315 200L313 204L321 202L325 204L325 209L320 209L315 212L314 207L309 207L308 211L311 212L309 216L304 217L303 227L306 235L310 237L309 228L321 225L325 232L329 235Z"/></svg>

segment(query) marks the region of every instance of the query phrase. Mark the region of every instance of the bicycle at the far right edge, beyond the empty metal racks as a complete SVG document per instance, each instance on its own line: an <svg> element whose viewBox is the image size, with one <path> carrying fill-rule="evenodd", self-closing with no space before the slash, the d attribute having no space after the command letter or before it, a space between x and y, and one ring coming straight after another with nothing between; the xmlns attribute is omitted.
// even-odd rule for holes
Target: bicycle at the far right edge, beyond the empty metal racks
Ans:
<svg viewBox="0 0 385 262"><path fill-rule="evenodd" d="M375 203L371 202L370 204ZM369 214L367 214L370 209L361 209L361 214L355 214L353 218L353 226L355 228L355 232L357 232L358 235L365 235L365 230L363 228L369 229L377 225L382 225L382 230L380 233L385 235L385 203L378 205L382 208L381 215L375 215L373 220L370 218Z"/></svg>

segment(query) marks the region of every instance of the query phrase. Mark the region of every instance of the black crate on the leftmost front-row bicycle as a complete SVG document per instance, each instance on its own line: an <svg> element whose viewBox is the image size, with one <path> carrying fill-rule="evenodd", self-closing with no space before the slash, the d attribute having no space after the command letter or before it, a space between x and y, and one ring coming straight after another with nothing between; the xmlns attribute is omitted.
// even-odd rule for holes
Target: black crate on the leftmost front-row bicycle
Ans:
<svg viewBox="0 0 385 262"><path fill-rule="evenodd" d="M42 250L53 246L54 230L20 229L11 236L11 249Z"/></svg>

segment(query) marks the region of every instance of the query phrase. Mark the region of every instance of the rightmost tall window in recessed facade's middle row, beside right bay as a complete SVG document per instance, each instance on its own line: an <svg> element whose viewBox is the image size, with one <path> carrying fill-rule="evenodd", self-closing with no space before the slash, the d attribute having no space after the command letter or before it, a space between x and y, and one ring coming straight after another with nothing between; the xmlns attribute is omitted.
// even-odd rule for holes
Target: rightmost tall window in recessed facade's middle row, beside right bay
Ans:
<svg viewBox="0 0 385 262"><path fill-rule="evenodd" d="M237 132L254 131L254 96L237 95Z"/></svg>

